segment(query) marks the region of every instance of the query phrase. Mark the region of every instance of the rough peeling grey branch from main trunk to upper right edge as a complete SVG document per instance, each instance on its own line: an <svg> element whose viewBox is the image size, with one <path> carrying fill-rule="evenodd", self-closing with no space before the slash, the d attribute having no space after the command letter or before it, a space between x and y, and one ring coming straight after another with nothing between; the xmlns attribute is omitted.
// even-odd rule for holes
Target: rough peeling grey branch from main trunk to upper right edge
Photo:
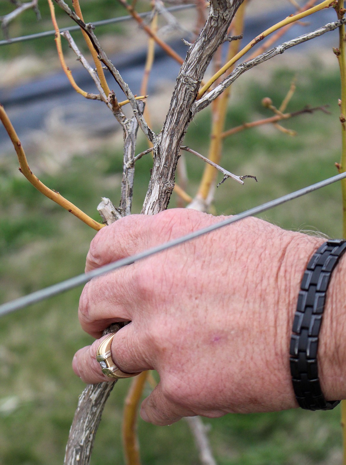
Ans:
<svg viewBox="0 0 346 465"><path fill-rule="evenodd" d="M334 23L326 24L325 26L320 27L319 29L316 29L315 31L311 33L301 35L299 37L296 37L293 40L288 40L287 42L284 42L283 44L277 47L274 47L265 53L262 53L256 58L253 58L252 60L248 60L248 61L245 61L244 63L241 63L218 86L216 86L213 90L211 90L209 93L204 95L200 100L195 102L192 108L193 114L196 114L197 112L199 112L206 106L210 105L210 103L213 100L215 100L221 93L223 93L228 86L230 86L243 73L245 73L249 69L252 69L254 66L257 66L260 63L264 63L265 61L270 60L274 56L284 53L289 48L302 44L306 42L307 40L315 39L316 37L319 37L327 32L334 31L335 29L337 29L338 27L340 27L342 24L345 24L345 23L346 23L346 19L342 19L339 21L335 21Z"/></svg>

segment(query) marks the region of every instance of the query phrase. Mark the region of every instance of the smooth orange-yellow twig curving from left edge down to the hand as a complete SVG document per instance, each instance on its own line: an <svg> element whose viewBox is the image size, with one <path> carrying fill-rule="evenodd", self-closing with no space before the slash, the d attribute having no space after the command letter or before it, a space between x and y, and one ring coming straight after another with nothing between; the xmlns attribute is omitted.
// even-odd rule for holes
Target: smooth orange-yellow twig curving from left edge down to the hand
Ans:
<svg viewBox="0 0 346 465"><path fill-rule="evenodd" d="M62 206L67 210L69 213L72 213L74 216L82 220L85 224L92 227L96 231L99 231L104 225L101 225L94 219L90 218L86 213L82 212L79 208L77 208L73 203L69 202L65 199L59 192L50 189L49 187L45 186L40 179L33 174L29 165L27 164L27 157L25 155L24 149L20 143L19 137L12 126L11 121L9 120L7 113L2 105L0 105L0 120L4 125L11 142L13 143L14 149L17 153L18 161L19 161L19 171L20 173L24 174L27 180L38 190L40 193L48 197L48 199L53 200L53 202L57 203L58 205Z"/></svg>

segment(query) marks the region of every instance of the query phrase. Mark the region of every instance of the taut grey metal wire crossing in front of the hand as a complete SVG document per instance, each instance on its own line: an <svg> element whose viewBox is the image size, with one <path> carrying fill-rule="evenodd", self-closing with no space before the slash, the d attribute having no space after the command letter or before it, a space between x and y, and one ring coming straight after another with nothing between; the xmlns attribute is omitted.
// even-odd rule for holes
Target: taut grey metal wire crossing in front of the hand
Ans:
<svg viewBox="0 0 346 465"><path fill-rule="evenodd" d="M80 286L81 284L85 284L91 279L101 276L102 274L118 270L122 266L132 265L134 262L138 260L142 260L156 253L163 252L164 250L170 249L171 247L179 246L180 244L183 244L188 240L196 239L204 234L211 233L216 229L222 228L223 226L231 225L232 223L235 223L240 219L263 213L266 210L269 210L270 208L282 205L288 202L289 200L297 199L298 197L316 191L321 187L328 186L329 184L333 184L334 182L337 182L344 178L346 178L346 173L338 174L337 176L333 176L332 178L325 179L311 186L307 186L293 193L284 195L283 197L279 197L278 199L271 200L270 202L266 202L260 206L251 208L250 210L246 210L243 213L239 213L237 215L234 215L233 217L220 221L219 223L207 226L206 228L200 229L199 231L195 231L194 233L186 234L186 236L171 240L160 246L152 247L151 249L148 249L141 253L137 253L136 255L132 255L131 257L126 257L125 259L117 260L116 262L110 263L109 265L101 266L97 270L93 270L85 274L80 274L78 276L75 276L74 278L67 279L66 281L62 281L58 284L54 284L53 286L46 287L45 289L41 289L40 291L32 292L31 294L28 294L24 297L12 300L11 302L7 302L6 304L0 306L0 316L6 315L10 312L14 312L15 310L19 310L20 308L34 304L36 302L40 302L41 300L48 299L53 295L60 294L61 292L68 291L69 289L73 289L74 287Z"/></svg>

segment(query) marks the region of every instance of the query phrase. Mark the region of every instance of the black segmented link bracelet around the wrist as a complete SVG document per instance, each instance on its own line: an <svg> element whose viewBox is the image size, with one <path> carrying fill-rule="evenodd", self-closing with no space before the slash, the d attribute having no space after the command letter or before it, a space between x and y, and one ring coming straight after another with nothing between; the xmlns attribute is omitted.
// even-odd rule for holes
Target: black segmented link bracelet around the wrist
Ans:
<svg viewBox="0 0 346 465"><path fill-rule="evenodd" d="M301 281L290 344L293 389L301 408L331 410L339 400L327 401L319 384L317 351L326 291L346 241L328 240L313 254Z"/></svg>

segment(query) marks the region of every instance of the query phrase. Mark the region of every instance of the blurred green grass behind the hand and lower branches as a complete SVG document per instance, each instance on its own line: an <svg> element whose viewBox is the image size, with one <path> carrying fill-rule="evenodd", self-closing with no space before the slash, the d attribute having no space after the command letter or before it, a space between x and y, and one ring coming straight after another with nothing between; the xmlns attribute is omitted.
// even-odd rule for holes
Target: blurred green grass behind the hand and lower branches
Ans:
<svg viewBox="0 0 346 465"><path fill-rule="evenodd" d="M226 127L270 116L260 101L279 106L293 73L273 72L270 82L237 83ZM272 126L246 130L225 141L222 165L233 173L254 174L244 186L227 181L216 191L218 214L240 212L284 193L336 174L339 160L339 77L319 62L297 76L289 106L329 104L331 115L315 113L285 122L294 138ZM185 142L207 154L210 115L201 114ZM140 139L137 152L146 148ZM0 163L0 298L15 298L83 271L94 232L35 191L17 171L13 154ZM204 165L186 154L193 195ZM150 176L151 157L136 165L133 212L140 212ZM120 196L121 147L74 156L54 176L40 173L48 186L98 219L101 196ZM219 180L221 179L221 175ZM263 218L288 229L341 235L340 186L333 185L284 206ZM170 207L176 205L173 195ZM69 427L83 384L71 369L74 352L91 338L77 319L81 288L1 319L0 464L61 464ZM232 359L230 358L230 363ZM121 412L129 381L118 383L107 403L93 452L93 465L122 464ZM146 392L148 394L148 391ZM337 464L341 457L339 408L332 412L292 410L270 414L226 415L211 425L213 452L221 465ZM184 421L154 427L139 420L143 464L198 464ZM339 462L338 462L339 460Z"/></svg>

